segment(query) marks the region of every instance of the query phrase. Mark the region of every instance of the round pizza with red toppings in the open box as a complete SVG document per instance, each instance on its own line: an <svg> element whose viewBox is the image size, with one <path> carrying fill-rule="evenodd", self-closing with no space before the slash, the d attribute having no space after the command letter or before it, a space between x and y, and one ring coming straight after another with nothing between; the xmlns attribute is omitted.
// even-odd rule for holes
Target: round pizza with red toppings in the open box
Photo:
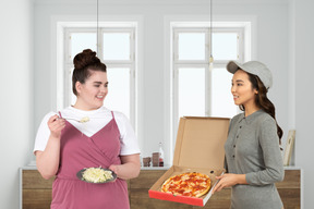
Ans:
<svg viewBox="0 0 314 209"><path fill-rule="evenodd" d="M210 188L208 175L197 172L182 173L169 177L161 185L161 192L188 197L201 197Z"/></svg>

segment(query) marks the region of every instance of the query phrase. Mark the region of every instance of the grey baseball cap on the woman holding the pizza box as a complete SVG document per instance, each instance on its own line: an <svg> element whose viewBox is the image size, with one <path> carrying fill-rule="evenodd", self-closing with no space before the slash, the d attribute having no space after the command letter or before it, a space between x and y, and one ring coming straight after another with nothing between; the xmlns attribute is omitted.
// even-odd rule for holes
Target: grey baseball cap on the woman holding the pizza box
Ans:
<svg viewBox="0 0 314 209"><path fill-rule="evenodd" d="M239 69L245 71L246 73L257 75L267 89L273 86L271 72L262 62L249 61L249 62L241 64L241 63L235 62L235 61L230 61L227 64L227 70L232 74L234 74Z"/></svg>

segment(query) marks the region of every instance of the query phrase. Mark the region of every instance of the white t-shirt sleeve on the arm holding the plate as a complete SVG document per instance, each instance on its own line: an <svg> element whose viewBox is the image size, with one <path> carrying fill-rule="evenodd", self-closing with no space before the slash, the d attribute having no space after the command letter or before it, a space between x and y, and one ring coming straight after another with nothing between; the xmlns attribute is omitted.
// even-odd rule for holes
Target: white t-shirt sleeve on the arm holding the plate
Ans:
<svg viewBox="0 0 314 209"><path fill-rule="evenodd" d="M134 153L140 153L140 147L137 138L135 136L134 130L129 122L129 119L121 112L113 112L114 119L120 131L120 145L121 145L121 156L129 156Z"/></svg>

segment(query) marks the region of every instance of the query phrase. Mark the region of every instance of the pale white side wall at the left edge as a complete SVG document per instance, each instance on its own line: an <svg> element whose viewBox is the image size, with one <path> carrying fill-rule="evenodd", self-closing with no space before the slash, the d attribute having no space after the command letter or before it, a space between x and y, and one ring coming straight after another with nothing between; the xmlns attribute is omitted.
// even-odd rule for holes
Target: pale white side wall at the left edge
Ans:
<svg viewBox="0 0 314 209"><path fill-rule="evenodd" d="M0 208L19 208L19 168L33 146L33 5L0 2L1 132Z"/></svg>

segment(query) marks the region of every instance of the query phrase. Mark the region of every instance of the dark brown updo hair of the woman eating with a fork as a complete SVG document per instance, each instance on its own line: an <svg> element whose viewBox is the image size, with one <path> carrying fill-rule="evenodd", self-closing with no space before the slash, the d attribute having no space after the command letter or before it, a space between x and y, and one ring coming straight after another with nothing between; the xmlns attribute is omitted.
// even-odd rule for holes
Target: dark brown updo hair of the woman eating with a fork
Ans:
<svg viewBox="0 0 314 209"><path fill-rule="evenodd" d="M107 66L99 58L96 57L96 52L90 49L84 49L81 53L77 53L73 59L74 71L72 74L72 90L77 96L75 84L80 82L84 84L90 76L90 71L107 72Z"/></svg>

